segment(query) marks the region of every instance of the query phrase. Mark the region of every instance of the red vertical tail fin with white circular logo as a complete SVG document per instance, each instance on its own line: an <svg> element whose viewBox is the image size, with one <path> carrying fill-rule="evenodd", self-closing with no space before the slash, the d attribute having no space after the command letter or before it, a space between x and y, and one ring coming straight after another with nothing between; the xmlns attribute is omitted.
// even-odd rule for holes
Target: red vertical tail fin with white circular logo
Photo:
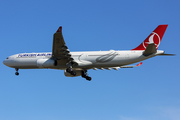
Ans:
<svg viewBox="0 0 180 120"><path fill-rule="evenodd" d="M148 44L154 43L158 49L168 25L159 25L138 47L132 50L145 50Z"/></svg>

